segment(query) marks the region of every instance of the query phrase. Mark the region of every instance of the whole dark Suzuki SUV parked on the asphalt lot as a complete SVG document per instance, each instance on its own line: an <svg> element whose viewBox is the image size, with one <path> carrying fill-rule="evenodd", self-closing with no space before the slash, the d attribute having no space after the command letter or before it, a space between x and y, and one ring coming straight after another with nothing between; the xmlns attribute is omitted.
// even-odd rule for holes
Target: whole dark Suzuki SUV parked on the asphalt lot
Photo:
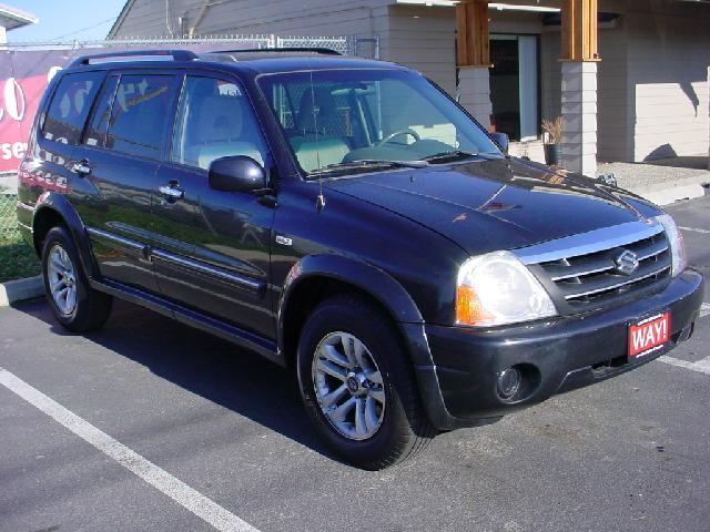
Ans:
<svg viewBox="0 0 710 532"><path fill-rule="evenodd" d="M397 64L93 55L47 91L18 217L62 326L119 297L254 350L379 469L692 332L670 216L506 144Z"/></svg>

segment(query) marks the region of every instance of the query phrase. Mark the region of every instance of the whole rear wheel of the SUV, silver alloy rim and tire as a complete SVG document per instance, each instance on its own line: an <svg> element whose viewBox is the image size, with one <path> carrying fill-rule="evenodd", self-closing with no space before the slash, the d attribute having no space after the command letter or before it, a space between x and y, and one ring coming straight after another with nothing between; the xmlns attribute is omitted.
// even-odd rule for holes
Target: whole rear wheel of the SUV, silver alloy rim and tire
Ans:
<svg viewBox="0 0 710 532"><path fill-rule="evenodd" d="M54 317L72 332L99 329L111 314L111 296L89 286L77 247L62 227L53 227L42 244L42 274Z"/></svg>

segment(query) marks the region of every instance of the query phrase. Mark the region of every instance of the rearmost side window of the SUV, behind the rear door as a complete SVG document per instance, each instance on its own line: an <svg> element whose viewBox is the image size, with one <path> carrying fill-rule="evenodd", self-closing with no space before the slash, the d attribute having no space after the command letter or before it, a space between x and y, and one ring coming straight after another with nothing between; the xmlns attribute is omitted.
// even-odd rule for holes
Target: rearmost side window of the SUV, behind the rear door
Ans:
<svg viewBox="0 0 710 532"><path fill-rule="evenodd" d="M103 72L85 72L62 76L47 112L42 136L62 144L79 144L91 104Z"/></svg>

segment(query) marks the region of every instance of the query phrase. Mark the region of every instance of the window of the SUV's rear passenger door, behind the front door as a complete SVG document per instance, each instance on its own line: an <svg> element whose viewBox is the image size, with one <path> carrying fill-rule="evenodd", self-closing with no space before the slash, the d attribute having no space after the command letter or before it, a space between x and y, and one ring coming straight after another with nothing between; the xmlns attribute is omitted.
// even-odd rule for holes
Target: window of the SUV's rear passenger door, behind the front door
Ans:
<svg viewBox="0 0 710 532"><path fill-rule="evenodd" d="M111 108L105 147L130 155L160 158L172 124L173 75L122 75Z"/></svg>

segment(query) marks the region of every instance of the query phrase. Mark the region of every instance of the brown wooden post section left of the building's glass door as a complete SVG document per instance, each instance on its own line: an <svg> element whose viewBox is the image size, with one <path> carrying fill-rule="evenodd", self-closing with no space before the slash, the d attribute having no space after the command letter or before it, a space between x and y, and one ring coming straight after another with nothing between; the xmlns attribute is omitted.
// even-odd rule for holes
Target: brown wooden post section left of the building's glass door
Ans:
<svg viewBox="0 0 710 532"><path fill-rule="evenodd" d="M488 0L462 0L456 6L458 66L490 66Z"/></svg>

